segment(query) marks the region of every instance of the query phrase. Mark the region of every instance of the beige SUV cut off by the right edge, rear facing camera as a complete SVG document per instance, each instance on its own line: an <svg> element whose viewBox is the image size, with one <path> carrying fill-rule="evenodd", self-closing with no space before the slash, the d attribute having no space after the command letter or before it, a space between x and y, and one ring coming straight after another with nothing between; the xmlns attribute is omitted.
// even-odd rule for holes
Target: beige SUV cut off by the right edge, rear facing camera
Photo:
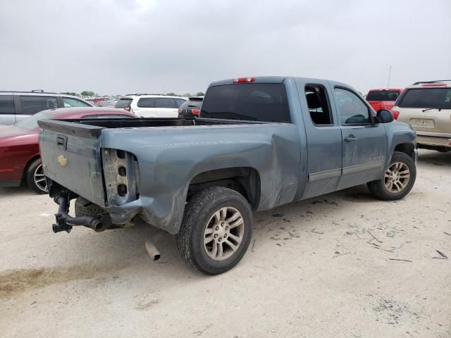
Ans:
<svg viewBox="0 0 451 338"><path fill-rule="evenodd" d="M414 127L419 148L451 151L451 80L415 82L397 98L392 112Z"/></svg>

